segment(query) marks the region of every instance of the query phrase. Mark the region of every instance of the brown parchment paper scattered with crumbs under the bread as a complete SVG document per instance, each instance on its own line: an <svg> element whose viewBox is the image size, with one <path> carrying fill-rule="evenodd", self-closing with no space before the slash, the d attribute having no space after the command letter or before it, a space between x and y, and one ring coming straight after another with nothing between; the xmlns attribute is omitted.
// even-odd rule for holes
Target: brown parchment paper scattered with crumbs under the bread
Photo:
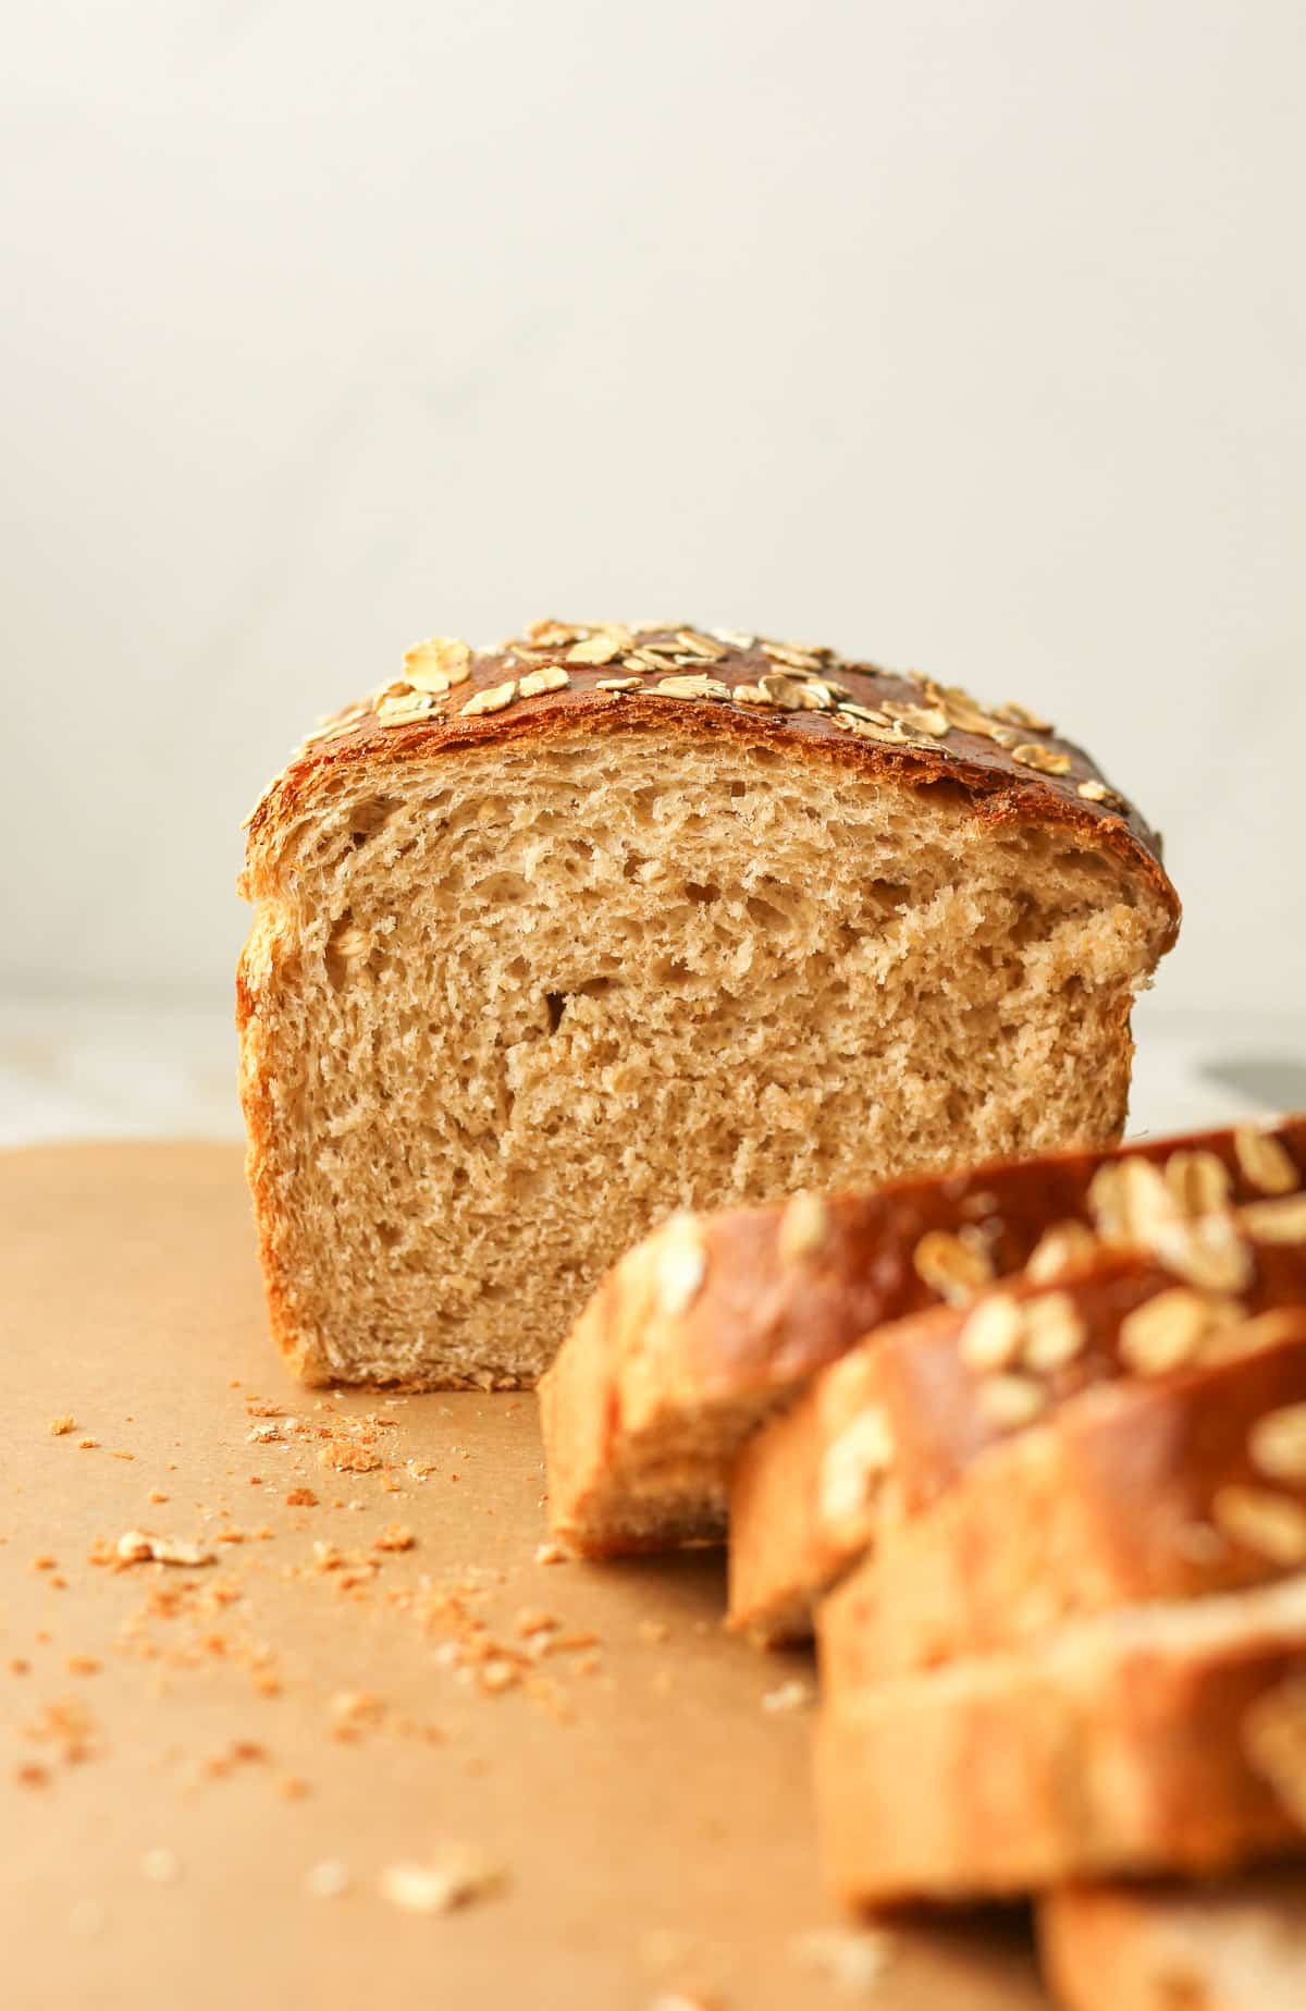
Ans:
<svg viewBox="0 0 1306 2011"><path fill-rule="evenodd" d="M528 1394L291 1384L239 1150L0 1154L0 1347L6 2007L858 2001L802 1959L810 1711L764 1705L810 1661L721 1633L717 1557L536 1563ZM129 1530L217 1561L90 1563ZM502 1890L386 1896L450 1844ZM862 2001L1043 1997L999 1921L894 1927Z"/></svg>

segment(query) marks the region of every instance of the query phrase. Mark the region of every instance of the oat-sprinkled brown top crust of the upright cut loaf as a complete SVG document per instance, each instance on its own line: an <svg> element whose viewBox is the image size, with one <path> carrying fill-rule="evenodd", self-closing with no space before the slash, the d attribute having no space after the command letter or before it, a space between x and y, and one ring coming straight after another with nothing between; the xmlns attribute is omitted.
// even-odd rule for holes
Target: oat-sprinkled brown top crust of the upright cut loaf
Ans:
<svg viewBox="0 0 1306 2011"><path fill-rule="evenodd" d="M557 637L557 639L553 639ZM627 644L629 637L629 644ZM683 637L695 637L697 648L683 648ZM599 654L611 642L607 662L577 662L577 652ZM444 654L442 654L444 650ZM450 656L448 652L466 652ZM711 654L703 654L711 650ZM374 702L346 708L309 736L263 792L249 820L249 845L243 891L257 899L271 891L275 879L271 861L277 839L311 796L340 774L342 768L366 764L368 772L384 774L410 756L430 756L444 748L506 746L540 736L587 732L641 734L667 726L669 708L679 726L705 734L729 734L737 740L784 748L798 758L846 762L864 774L880 774L904 786L954 786L970 798L985 822L1057 825L1073 831L1085 845L1097 845L1143 875L1153 895L1169 911L1171 927L1163 947L1173 943L1179 925L1179 899L1161 867L1161 843L1087 758L1069 740L1057 738L1043 722L1019 718L1019 708L985 712L966 694L940 688L932 680L904 678L872 664L850 662L824 648L774 644L766 637L731 637L693 629L689 623L643 627L639 633L615 623L534 623L522 639L498 650L468 652L464 644L432 646L430 662L454 668L460 682L442 696L432 696L432 710L422 718L404 718L404 678L422 674L408 664L394 686L374 694ZM661 668L635 668L635 658L647 654ZM418 652L410 652L410 660ZM522 678L565 674L561 690L514 696L502 710L466 716L464 708L484 692L498 692ZM438 682L428 678L428 682ZM725 696L681 696L667 684L703 678ZM792 694L784 704L747 704L737 692L764 690L759 680L788 680L794 690L816 692L834 686L848 692L830 694L828 710L810 708ZM631 690L603 690L605 684L633 682ZM780 690L780 686L776 686ZM386 692L392 694L386 700ZM398 724L384 724L386 706L398 710ZM416 702L416 700L414 700ZM824 700L820 700L824 704ZM382 706L378 714L376 704ZM890 718L884 706L904 712ZM790 706L794 710L790 710ZM860 718L846 708L860 706L878 714L886 726ZM1007 716L1003 716L1007 714ZM840 720L836 726L834 722ZM968 724L954 724L966 720ZM985 730L972 730L985 722ZM942 724L942 734L922 730ZM868 738L876 734L876 738ZM995 738L995 732L1003 738ZM880 738L882 736L882 738ZM1003 744L1009 742L1009 744ZM1065 772L1047 772L1047 768ZM1083 796L1089 788L1091 796ZM1099 796L1101 792L1101 796ZM1097 798L1097 800L1093 800Z"/></svg>

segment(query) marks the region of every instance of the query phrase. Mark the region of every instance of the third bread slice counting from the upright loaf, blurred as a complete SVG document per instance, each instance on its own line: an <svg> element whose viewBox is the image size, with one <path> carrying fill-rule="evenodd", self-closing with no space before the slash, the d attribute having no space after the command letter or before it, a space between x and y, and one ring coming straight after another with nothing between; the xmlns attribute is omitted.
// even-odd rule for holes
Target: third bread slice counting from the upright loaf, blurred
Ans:
<svg viewBox="0 0 1306 2011"><path fill-rule="evenodd" d="M888 1514L820 1607L830 1689L1302 1571L1306 1309L1222 1341L1208 1365L1089 1390L983 1452L924 1514Z"/></svg>

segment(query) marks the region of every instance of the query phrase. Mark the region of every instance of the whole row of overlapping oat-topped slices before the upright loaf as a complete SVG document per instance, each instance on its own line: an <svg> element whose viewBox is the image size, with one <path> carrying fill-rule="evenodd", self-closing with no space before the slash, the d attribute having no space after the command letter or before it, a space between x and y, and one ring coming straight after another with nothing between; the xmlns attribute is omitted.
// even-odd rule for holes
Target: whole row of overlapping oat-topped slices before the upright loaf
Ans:
<svg viewBox="0 0 1306 2011"><path fill-rule="evenodd" d="M834 1888L1051 1894L1075 2011L1195 1904L1121 1878L1306 1840L1304 1172L1296 1118L673 1223L545 1390L561 1534L729 1496L733 1625L816 1611Z"/></svg>

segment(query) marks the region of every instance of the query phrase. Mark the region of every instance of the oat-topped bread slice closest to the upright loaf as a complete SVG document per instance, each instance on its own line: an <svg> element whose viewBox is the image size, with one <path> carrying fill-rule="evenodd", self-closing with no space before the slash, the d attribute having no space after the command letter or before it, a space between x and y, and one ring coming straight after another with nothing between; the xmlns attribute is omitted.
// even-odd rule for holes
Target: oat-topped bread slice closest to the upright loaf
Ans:
<svg viewBox="0 0 1306 2011"><path fill-rule="evenodd" d="M1153 1162L1167 1174L1149 1170ZM860 1335L926 1307L922 1359L938 1353L946 1365L962 1315L940 1315L940 1297L968 1301L987 1279L1013 1275L1049 1229L1045 1261L1093 1245L1091 1189L1105 1233L1153 1237L1167 1265L1224 1257L1228 1269L1242 1241L1224 1219L1206 1223L1206 1203L1232 1197L1300 1211L1284 1186L1300 1184L1304 1166L1306 1120L1284 1120L1274 1132L1143 1140L902 1180L872 1195L804 1195L784 1207L675 1219L605 1281L542 1384L553 1528L595 1557L719 1536L739 1450L764 1420L792 1406ZM1113 1184L1121 1168L1129 1168L1129 1221ZM1095 1186L1105 1172L1107 1186ZM1274 1199L1266 1199L1270 1178ZM1276 1233L1296 1229L1284 1221ZM1306 1237L1306 1221L1300 1231ZM1119 1253L1111 1261L1131 1275ZM1147 1295L1157 1277L1173 1281L1153 1267L1151 1285L1143 1279L1135 1293ZM914 1359L924 1341L912 1335ZM1067 1365L1061 1386L1075 1386L1091 1359L1085 1351ZM966 1408L976 1418L972 1398ZM995 1432L991 1422L987 1436ZM972 1422L970 1442L983 1436ZM802 1460L802 1448L794 1456ZM782 1530L766 1506L755 1520L766 1540Z"/></svg>

